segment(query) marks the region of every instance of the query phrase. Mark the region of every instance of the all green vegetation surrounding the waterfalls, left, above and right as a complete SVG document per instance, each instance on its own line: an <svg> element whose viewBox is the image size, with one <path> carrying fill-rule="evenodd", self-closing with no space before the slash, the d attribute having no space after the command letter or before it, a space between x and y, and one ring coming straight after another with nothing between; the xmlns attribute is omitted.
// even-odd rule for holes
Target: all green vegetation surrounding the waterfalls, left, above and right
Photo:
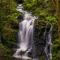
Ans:
<svg viewBox="0 0 60 60"><path fill-rule="evenodd" d="M16 45L19 23L17 19L19 12L16 11L17 2L16 0L0 0L0 60L12 60L12 48ZM55 0L25 0L23 6L25 10L38 17L35 21L35 27L39 30L38 32L47 23L53 26L52 60L60 60L60 41L57 29L59 28L58 18L60 15L59 8L56 7L59 4L56 5Z"/></svg>

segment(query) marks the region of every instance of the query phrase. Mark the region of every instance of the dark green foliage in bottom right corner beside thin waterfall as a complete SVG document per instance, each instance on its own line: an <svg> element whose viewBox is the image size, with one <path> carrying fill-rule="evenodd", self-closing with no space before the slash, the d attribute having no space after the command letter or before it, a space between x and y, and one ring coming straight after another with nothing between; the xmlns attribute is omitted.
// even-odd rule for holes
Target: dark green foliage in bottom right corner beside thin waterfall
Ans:
<svg viewBox="0 0 60 60"><path fill-rule="evenodd" d="M55 39L55 41L53 42L53 59L52 60L60 60L60 41L59 39Z"/></svg>

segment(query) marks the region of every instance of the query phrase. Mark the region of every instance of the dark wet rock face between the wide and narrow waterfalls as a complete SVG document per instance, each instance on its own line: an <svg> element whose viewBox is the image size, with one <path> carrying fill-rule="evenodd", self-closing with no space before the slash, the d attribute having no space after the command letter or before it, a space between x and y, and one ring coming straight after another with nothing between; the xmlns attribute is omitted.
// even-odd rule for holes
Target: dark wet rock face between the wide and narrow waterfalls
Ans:
<svg viewBox="0 0 60 60"><path fill-rule="evenodd" d="M44 32L46 28L46 22L40 21L40 20L35 20L35 25L34 25L34 43L36 46L36 55L40 56L43 54L43 48L46 44L45 37L44 37Z"/></svg>

